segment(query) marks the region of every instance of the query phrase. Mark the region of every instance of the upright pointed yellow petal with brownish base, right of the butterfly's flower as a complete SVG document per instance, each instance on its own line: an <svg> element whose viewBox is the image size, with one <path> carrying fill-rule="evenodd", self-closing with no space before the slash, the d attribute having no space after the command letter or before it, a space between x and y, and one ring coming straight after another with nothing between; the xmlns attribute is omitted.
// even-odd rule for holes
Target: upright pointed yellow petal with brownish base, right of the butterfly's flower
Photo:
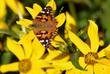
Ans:
<svg viewBox="0 0 110 74"><path fill-rule="evenodd" d="M72 30L72 29L74 29L75 26L76 26L75 19L68 12L66 12L65 29L66 30Z"/></svg>

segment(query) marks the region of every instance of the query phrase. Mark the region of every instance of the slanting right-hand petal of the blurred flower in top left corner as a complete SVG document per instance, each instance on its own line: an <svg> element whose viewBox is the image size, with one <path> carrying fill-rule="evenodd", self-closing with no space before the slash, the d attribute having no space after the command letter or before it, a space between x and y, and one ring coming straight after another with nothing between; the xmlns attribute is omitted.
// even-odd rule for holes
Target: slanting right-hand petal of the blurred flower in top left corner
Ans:
<svg viewBox="0 0 110 74"><path fill-rule="evenodd" d="M5 0L7 5L10 7L10 9L18 14L18 10L20 10L20 12L22 14L25 14L25 11L24 11L24 8L23 8L23 5L20 3L20 2L17 2L16 0Z"/></svg>

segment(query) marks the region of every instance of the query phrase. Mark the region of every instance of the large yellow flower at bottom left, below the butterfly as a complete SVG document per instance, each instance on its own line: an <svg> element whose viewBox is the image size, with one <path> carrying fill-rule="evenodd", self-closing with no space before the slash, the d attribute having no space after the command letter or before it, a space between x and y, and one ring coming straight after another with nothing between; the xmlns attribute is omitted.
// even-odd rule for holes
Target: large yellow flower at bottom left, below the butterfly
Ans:
<svg viewBox="0 0 110 74"><path fill-rule="evenodd" d="M47 61L41 59L45 48L40 44L32 31L24 35L18 42L7 38L7 47L19 61L0 66L2 73L19 71L20 74L45 74L43 68L50 66Z"/></svg>

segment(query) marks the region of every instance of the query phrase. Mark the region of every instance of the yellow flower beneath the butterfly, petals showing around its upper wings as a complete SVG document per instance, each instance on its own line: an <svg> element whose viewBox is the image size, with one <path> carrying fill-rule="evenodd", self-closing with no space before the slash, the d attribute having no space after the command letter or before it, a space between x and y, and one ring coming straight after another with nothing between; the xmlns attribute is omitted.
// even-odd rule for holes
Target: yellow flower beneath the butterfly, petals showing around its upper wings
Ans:
<svg viewBox="0 0 110 74"><path fill-rule="evenodd" d="M56 10L56 4L54 0L50 0L46 6L51 6L53 10ZM26 7L26 9L31 14L32 18L35 19L35 17L41 12L42 7L38 4L33 4L33 9L30 7ZM60 27L65 21L65 14L61 13L56 16L55 19L58 22L57 27ZM17 24L23 25L25 27L29 27L29 25L32 23L32 20L29 19L21 19L20 21L17 21Z"/></svg>

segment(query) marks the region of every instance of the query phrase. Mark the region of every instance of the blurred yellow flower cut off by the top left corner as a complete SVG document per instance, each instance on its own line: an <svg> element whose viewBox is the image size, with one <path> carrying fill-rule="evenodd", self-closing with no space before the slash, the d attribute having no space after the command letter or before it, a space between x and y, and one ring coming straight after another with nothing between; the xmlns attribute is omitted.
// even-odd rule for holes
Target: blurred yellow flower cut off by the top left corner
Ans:
<svg viewBox="0 0 110 74"><path fill-rule="evenodd" d="M0 19L3 18L7 11L6 11L6 5L16 14L18 14L18 8L17 8L17 4L18 3L18 7L20 9L20 11L22 12L22 14L25 13L23 5L17 1L17 0L1 0L0 1Z"/></svg>

